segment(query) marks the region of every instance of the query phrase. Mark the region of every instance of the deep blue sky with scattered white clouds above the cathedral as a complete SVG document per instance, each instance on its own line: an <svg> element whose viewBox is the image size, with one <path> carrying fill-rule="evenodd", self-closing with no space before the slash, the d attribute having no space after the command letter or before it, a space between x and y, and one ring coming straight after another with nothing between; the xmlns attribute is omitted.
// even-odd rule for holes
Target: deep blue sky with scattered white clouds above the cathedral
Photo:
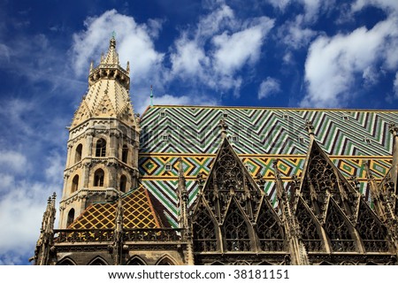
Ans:
<svg viewBox="0 0 398 283"><path fill-rule="evenodd" d="M33 256L67 131L116 32L149 104L397 109L398 1L0 1L0 264Z"/></svg>

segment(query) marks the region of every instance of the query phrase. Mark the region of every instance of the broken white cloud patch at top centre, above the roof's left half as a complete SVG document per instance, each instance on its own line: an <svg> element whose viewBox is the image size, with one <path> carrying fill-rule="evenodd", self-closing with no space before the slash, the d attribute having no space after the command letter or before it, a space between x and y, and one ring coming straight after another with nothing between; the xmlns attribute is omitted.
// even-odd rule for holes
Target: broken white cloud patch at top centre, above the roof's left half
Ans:
<svg viewBox="0 0 398 283"><path fill-rule="evenodd" d="M256 64L273 25L267 17L237 19L229 6L219 4L181 32L171 52L172 75L239 96L239 71Z"/></svg>

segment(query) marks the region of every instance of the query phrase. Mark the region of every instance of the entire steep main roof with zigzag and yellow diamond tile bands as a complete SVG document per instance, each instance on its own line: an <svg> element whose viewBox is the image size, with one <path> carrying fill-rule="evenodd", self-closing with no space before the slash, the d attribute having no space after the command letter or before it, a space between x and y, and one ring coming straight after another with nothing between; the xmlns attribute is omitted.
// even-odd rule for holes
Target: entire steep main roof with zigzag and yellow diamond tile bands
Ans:
<svg viewBox="0 0 398 283"><path fill-rule="evenodd" d="M226 119L230 143L250 175L264 176L264 191L272 202L276 193L272 170L275 158L279 159L285 187L290 186L292 176L302 175L310 146L306 120L312 122L320 148L346 178L356 176L359 191L371 200L364 160L371 159L376 179L381 180L387 173L393 148L388 125L398 121L398 111L149 107L141 119L141 181L165 208L163 213L172 226L177 226L179 215L178 158L182 158L189 202L193 203L198 193L195 178L200 172L208 175L216 157L221 141L220 119ZM166 170L166 164L172 170Z"/></svg>

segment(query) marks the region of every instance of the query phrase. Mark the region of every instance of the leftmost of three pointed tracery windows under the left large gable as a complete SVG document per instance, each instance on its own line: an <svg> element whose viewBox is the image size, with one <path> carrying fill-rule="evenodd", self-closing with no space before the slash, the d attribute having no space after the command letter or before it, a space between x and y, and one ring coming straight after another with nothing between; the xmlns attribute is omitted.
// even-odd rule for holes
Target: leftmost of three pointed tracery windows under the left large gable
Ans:
<svg viewBox="0 0 398 283"><path fill-rule="evenodd" d="M194 222L195 251L216 251L217 237L216 227L204 206L195 216Z"/></svg>

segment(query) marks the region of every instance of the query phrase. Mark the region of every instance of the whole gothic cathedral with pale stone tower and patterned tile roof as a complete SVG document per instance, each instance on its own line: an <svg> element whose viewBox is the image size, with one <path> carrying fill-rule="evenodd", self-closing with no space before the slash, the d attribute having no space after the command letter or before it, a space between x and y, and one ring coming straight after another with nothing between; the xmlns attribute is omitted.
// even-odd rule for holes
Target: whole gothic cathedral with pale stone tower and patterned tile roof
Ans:
<svg viewBox="0 0 398 283"><path fill-rule="evenodd" d="M140 116L129 88L112 37L67 128L34 264L397 264L398 111Z"/></svg>

